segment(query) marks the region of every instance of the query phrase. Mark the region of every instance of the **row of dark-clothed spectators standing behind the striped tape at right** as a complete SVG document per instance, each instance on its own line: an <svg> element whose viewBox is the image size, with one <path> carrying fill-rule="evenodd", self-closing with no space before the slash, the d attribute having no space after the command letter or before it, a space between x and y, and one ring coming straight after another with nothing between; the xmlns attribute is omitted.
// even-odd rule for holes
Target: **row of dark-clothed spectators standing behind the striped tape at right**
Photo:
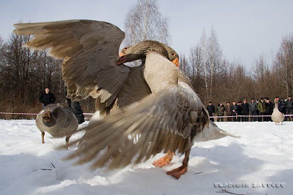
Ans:
<svg viewBox="0 0 293 195"><path fill-rule="evenodd" d="M287 99L276 97L277 109L284 115L293 115L293 99L289 95ZM275 104L270 98L260 98L254 99L251 98L251 102L247 102L246 99L242 101L232 101L226 102L226 106L220 102L218 106L214 106L212 102L209 102L207 110L210 117L215 117L218 122L224 121L224 116L227 118L225 121L272 121L271 117ZM239 117L238 117L239 116ZM246 117L247 116L247 117ZM214 121L214 118L210 118L211 121ZM285 117L285 121L293 121L293 116Z"/></svg>

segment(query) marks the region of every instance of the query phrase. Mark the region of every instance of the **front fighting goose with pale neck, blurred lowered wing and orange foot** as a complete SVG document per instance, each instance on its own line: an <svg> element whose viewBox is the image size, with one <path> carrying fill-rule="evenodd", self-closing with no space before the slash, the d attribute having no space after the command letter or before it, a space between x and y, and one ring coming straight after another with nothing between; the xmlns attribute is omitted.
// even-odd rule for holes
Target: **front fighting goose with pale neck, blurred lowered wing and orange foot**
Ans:
<svg viewBox="0 0 293 195"><path fill-rule="evenodd" d="M77 163L84 163L94 159L107 144L113 143L92 165L93 168L104 165L113 168L139 163L162 150L178 150L185 153L183 165L167 172L178 179L187 172L193 141L217 139L229 134L214 123L209 125L204 105L178 67L157 52L132 53L131 48L126 50L125 56L117 63L145 55L144 78L152 94L87 127L87 134L82 139L88 144L68 158L80 156ZM134 138L127 138L129 134L142 136L133 144ZM124 147L120 147L123 144ZM112 158L117 148L120 148L120 153ZM88 153L88 150L93 153Z"/></svg>

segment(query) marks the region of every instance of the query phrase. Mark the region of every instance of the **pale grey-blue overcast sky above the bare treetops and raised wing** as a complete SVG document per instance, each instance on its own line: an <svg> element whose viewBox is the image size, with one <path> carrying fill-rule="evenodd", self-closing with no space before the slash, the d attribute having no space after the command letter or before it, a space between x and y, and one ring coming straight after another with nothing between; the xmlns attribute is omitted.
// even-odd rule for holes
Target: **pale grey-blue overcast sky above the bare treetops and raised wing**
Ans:
<svg viewBox="0 0 293 195"><path fill-rule="evenodd" d="M0 0L0 36L8 38L13 23L69 19L103 20L124 30L124 19L136 0ZM172 44L189 54L203 29L213 26L223 55L247 66L279 48L282 35L293 33L293 0L159 0L169 20Z"/></svg>

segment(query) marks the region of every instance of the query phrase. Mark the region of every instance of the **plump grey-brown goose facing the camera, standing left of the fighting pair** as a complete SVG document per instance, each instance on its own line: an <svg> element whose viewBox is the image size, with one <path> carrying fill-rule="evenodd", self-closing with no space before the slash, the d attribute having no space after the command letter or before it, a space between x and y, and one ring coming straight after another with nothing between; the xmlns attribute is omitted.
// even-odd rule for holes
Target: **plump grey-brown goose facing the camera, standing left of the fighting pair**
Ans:
<svg viewBox="0 0 293 195"><path fill-rule="evenodd" d="M66 148L71 134L78 128L78 120L69 107L48 104L36 117L36 126L41 131L42 144L45 132L53 137L66 136Z"/></svg>

